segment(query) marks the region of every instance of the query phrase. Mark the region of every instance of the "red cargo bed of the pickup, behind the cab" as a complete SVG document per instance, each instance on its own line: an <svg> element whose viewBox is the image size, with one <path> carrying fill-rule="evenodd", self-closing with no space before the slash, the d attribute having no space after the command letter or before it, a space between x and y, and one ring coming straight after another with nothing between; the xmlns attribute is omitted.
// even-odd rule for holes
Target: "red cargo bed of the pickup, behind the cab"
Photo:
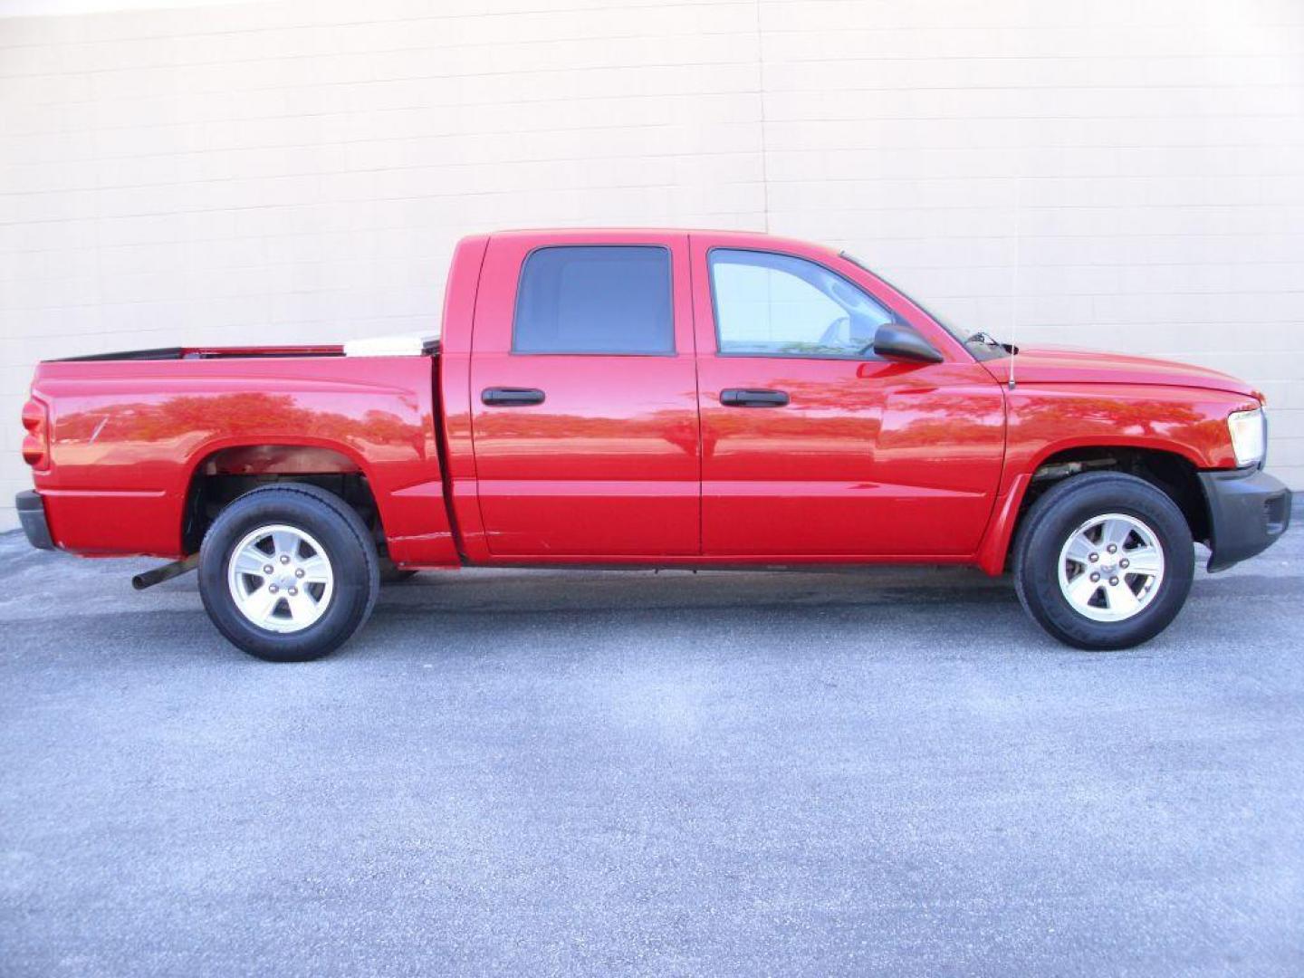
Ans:
<svg viewBox="0 0 1304 978"><path fill-rule="evenodd" d="M40 364L33 399L48 412L50 458L34 480L55 544L183 557L197 473L275 472L296 464L275 449L300 446L365 480L398 531L396 558L456 563L434 436L437 347L344 353L177 347Z"/></svg>

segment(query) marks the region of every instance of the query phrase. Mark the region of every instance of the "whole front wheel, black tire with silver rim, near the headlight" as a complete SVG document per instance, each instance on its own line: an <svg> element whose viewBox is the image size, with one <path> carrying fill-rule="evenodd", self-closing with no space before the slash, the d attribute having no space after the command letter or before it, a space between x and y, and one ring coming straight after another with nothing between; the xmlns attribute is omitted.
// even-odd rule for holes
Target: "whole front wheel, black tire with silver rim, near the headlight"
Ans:
<svg viewBox="0 0 1304 978"><path fill-rule="evenodd" d="M1076 648L1148 642L1181 610L1194 576L1191 529L1150 482L1074 476L1028 511L1015 541L1015 589L1046 631Z"/></svg>

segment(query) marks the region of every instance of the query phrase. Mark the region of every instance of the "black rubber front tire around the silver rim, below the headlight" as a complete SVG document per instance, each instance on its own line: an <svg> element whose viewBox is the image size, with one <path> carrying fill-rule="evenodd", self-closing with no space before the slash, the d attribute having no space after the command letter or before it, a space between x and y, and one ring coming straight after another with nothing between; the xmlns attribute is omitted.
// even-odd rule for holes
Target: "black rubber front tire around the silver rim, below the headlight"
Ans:
<svg viewBox="0 0 1304 978"><path fill-rule="evenodd" d="M1164 567L1158 592L1140 612L1099 622L1064 596L1059 561L1082 523L1111 512L1138 519L1154 532ZM1060 642L1085 649L1132 648L1153 639L1181 610L1196 570L1191 528L1178 505L1150 482L1119 472L1073 476L1051 486L1024 518L1013 556L1015 589L1024 609Z"/></svg>

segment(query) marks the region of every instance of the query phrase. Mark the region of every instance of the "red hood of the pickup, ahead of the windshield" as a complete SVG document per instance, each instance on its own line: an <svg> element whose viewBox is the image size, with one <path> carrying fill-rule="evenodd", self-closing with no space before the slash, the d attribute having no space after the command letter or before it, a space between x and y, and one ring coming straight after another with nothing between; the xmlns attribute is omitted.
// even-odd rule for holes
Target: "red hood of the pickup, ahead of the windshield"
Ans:
<svg viewBox="0 0 1304 978"><path fill-rule="evenodd" d="M1009 377L1009 357L983 363L991 374ZM1172 360L1124 353L1097 353L1071 347L1020 347L1015 357L1015 381L1025 383L1145 383L1168 387L1202 387L1244 396L1260 396L1244 381L1218 370Z"/></svg>

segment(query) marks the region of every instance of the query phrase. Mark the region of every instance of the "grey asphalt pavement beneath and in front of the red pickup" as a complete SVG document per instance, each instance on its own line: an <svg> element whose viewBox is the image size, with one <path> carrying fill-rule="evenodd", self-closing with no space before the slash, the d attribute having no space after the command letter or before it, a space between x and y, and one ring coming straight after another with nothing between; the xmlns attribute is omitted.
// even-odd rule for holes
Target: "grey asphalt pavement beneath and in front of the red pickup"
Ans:
<svg viewBox="0 0 1304 978"><path fill-rule="evenodd" d="M1121 653L962 570L467 571L333 659L0 537L0 974L1304 974L1304 533Z"/></svg>

